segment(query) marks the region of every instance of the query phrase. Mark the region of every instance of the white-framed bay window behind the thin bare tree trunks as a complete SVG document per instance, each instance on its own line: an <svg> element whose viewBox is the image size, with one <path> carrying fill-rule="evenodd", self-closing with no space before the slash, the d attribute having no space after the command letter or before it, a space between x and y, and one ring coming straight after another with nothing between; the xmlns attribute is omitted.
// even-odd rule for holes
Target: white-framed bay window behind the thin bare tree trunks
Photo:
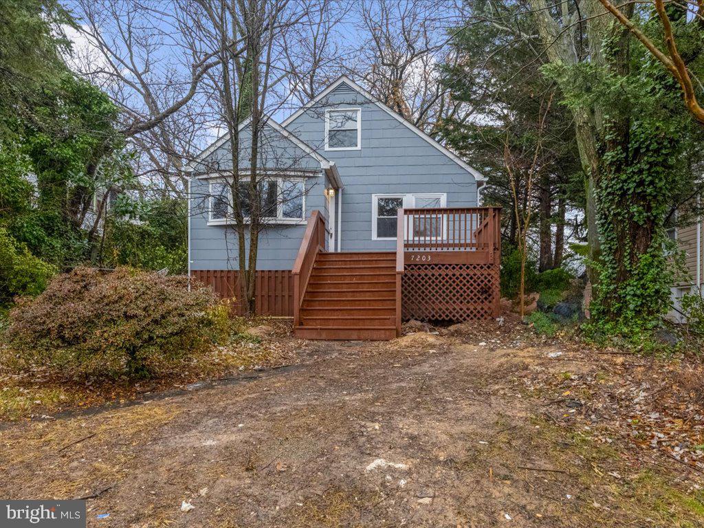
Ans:
<svg viewBox="0 0 704 528"><path fill-rule="evenodd" d="M306 212L306 191L302 179L272 178L261 183L262 195L259 203L262 220L270 223L298 223L304 220ZM225 224L232 221L230 185L225 182L210 182L209 223ZM251 217L252 200L249 186L240 183L239 196L242 215Z"/></svg>

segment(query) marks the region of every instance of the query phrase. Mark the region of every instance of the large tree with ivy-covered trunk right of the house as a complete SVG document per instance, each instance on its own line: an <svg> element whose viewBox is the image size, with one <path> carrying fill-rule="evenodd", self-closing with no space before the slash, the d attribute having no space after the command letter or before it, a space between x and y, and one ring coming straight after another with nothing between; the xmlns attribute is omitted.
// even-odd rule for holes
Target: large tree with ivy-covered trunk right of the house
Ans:
<svg viewBox="0 0 704 528"><path fill-rule="evenodd" d="M642 31L662 39L662 25L648 11L624 8ZM682 15L675 31L690 35L689 53L704 52L700 30ZM663 250L665 220L673 204L693 189L693 162L702 153L702 130L681 104L681 91L629 30L614 21L603 41L603 64L551 65L548 73L565 87L574 109L599 108L599 177L596 213L601 258L593 327L607 334L641 337L670 306L672 266Z"/></svg>

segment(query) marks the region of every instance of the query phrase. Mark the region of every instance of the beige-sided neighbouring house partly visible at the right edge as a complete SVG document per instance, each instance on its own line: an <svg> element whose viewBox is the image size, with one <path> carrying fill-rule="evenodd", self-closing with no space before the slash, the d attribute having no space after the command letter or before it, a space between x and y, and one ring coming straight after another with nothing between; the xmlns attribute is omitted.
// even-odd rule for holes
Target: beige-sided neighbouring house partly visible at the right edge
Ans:
<svg viewBox="0 0 704 528"><path fill-rule="evenodd" d="M687 279L680 280L672 287L674 309L668 314L675 322L685 322L681 313L681 298L688 294L699 294L704 287L704 220L687 227L673 227L667 231L670 238L677 240L677 246L684 251L684 265Z"/></svg>

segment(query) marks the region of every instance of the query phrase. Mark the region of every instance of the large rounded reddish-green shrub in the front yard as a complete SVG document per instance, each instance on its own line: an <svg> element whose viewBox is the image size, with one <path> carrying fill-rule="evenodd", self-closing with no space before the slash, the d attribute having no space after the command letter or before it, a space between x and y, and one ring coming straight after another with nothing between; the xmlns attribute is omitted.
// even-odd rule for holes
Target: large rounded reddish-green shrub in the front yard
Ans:
<svg viewBox="0 0 704 528"><path fill-rule="evenodd" d="M131 268L58 275L37 298L20 298L9 320L13 366L67 377L162 375L227 332L227 308L212 289Z"/></svg>

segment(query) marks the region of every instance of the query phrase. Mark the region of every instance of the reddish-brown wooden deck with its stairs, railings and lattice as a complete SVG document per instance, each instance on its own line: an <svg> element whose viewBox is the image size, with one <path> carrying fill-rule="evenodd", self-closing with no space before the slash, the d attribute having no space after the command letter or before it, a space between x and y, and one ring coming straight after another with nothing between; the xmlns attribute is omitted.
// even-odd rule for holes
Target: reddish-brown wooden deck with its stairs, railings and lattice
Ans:
<svg viewBox="0 0 704 528"><path fill-rule="evenodd" d="M498 315L501 208L398 210L396 251L328 253L314 211L292 275L294 332L306 339L392 339L408 319Z"/></svg>

